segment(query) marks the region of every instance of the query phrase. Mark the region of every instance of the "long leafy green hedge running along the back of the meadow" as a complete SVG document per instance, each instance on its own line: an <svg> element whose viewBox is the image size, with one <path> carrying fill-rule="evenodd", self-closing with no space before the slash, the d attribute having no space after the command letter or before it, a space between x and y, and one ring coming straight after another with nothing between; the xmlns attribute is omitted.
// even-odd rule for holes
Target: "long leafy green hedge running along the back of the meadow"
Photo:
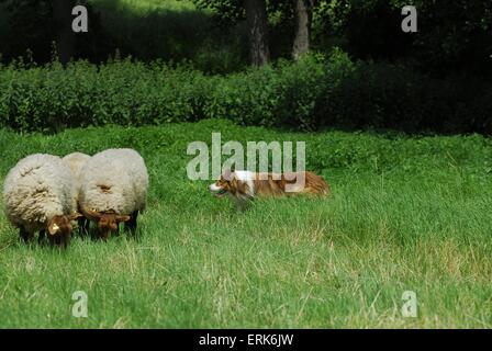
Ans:
<svg viewBox="0 0 492 351"><path fill-rule="evenodd" d="M337 126L492 132L490 84L437 80L390 64L327 58L206 76L188 64L114 58L0 67L0 126L57 132L228 118L243 125L313 131Z"/></svg>

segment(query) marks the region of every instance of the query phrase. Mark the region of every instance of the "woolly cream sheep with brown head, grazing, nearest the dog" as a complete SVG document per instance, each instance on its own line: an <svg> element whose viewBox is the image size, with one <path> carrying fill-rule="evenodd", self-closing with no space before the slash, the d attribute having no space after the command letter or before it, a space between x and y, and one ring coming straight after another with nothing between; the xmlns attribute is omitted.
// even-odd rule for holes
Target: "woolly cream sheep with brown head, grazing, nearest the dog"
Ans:
<svg viewBox="0 0 492 351"><path fill-rule="evenodd" d="M96 154L81 171L79 207L98 223L104 240L118 234L119 224L136 233L138 213L146 207L148 173L144 159L133 149Z"/></svg>

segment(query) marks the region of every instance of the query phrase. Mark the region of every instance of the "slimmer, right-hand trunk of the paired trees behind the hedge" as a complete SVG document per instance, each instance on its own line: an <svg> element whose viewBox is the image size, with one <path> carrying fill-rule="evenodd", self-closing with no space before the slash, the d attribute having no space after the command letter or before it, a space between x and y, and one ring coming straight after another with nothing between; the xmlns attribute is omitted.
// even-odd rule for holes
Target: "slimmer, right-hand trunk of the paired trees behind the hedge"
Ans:
<svg viewBox="0 0 492 351"><path fill-rule="evenodd" d="M292 57L298 60L310 50L311 23L313 21L314 0L293 0L295 8L295 35Z"/></svg>

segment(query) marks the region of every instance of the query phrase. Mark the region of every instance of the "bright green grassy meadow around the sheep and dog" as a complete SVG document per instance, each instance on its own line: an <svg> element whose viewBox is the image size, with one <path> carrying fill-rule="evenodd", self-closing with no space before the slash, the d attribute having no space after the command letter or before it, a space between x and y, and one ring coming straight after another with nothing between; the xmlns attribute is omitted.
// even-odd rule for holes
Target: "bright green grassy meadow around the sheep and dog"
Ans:
<svg viewBox="0 0 492 351"><path fill-rule="evenodd" d="M305 140L326 200L258 201L237 213L186 176L187 145ZM0 129L0 180L23 156L141 151L150 173L139 239L25 246L0 215L0 327L490 328L492 140L297 134L226 122ZM88 317L71 316L72 293ZM402 317L416 293L418 316Z"/></svg>

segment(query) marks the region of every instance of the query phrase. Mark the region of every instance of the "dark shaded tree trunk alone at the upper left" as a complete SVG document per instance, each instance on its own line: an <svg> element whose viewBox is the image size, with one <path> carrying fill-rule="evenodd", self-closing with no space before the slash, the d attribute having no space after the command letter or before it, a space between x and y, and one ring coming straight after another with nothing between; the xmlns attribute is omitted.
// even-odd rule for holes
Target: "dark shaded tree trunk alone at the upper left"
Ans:
<svg viewBox="0 0 492 351"><path fill-rule="evenodd" d="M54 0L53 1L53 18L56 22L56 50L58 53L59 61L66 65L74 56L75 49L75 33L71 30L71 9L74 1L69 0Z"/></svg>

